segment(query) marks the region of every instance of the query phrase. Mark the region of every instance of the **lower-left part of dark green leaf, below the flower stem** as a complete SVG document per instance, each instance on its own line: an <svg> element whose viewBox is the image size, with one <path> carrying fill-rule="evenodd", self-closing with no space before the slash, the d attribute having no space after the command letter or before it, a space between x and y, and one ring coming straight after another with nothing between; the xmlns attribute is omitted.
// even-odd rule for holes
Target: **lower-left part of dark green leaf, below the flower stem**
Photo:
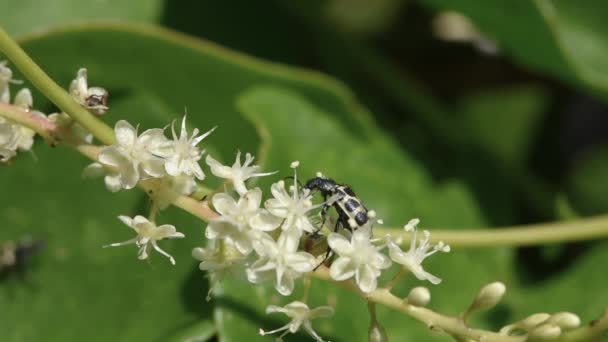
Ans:
<svg viewBox="0 0 608 342"><path fill-rule="evenodd" d="M152 253L137 260L134 245L103 249L133 238L118 215L145 214L137 191L111 194L100 182L83 181L87 164L67 148L37 146L2 168L0 240L40 240L21 277L0 282L4 341L86 339L165 340L173 332L211 320L207 285L190 250L200 244L193 219L177 210L162 215L189 239L162 241L178 260Z"/></svg>

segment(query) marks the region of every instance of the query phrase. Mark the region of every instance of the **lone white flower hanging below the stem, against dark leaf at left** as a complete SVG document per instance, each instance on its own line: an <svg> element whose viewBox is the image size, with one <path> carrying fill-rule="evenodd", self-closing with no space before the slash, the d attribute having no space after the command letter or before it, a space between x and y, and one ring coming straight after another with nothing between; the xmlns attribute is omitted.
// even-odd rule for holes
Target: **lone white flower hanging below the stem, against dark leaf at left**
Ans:
<svg viewBox="0 0 608 342"><path fill-rule="evenodd" d="M180 239L184 237L184 234L177 232L175 227L170 224L157 226L154 222L148 221L147 218L141 215L137 215L134 218L128 216L118 216L118 218L124 224L133 228L137 233L137 236L124 242L116 242L103 246L104 248L135 244L139 247L138 258L144 260L148 258L148 249L152 247L158 253L169 258L171 264L175 265L175 259L173 259L169 253L158 247L157 241L162 239Z"/></svg>

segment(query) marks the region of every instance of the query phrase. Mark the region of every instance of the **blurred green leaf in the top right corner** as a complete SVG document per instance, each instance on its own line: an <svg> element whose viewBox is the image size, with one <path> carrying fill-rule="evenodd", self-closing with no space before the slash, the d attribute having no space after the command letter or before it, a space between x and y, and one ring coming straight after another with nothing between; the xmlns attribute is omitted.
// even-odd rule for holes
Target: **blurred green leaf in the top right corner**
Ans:
<svg viewBox="0 0 608 342"><path fill-rule="evenodd" d="M533 69L608 96L605 2L568 0L422 0L456 10L496 39L505 54Z"/></svg>

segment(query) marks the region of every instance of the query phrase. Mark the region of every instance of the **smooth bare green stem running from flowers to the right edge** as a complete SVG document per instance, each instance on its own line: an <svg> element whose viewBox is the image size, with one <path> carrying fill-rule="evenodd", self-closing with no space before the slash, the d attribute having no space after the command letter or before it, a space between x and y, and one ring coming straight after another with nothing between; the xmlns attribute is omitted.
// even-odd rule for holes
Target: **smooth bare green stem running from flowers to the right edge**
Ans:
<svg viewBox="0 0 608 342"><path fill-rule="evenodd" d="M378 227L374 235L390 234L408 241L403 230ZM493 229L431 230L431 241L444 241L453 247L518 247L549 243L593 240L608 237L608 215L565 222L551 222Z"/></svg>

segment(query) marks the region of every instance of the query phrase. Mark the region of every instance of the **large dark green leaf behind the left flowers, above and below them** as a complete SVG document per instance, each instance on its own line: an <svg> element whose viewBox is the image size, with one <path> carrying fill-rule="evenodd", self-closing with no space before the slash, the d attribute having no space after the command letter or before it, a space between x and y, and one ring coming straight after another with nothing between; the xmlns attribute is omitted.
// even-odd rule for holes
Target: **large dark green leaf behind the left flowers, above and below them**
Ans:
<svg viewBox="0 0 608 342"><path fill-rule="evenodd" d="M111 125L127 119L141 124L140 130L164 127L181 118L185 108L190 128L219 125L205 147L223 160L233 160L237 149L258 149L253 126L235 107L238 94L258 83L306 94L362 137L378 132L365 113L353 117L350 109L357 104L352 95L325 76L262 62L174 32L85 25L22 43L66 87L78 68L87 67L89 84L111 93L111 109L104 116ZM52 110L38 92L34 99L37 108ZM38 163L24 155L1 170L3 193L14 195L0 200L0 224L8 227L0 237L31 235L47 241L25 282L0 282L0 305L13 313L0 323L6 332L3 337L52 341L78 336L101 341L179 339L185 336L180 335L182 330L207 334L198 328L211 318L212 304L204 301L207 281L190 257L194 246L204 244L204 225L177 209L160 215L160 222L172 223L187 235L184 240L162 242L176 257L176 267L156 254L150 265L142 263L134 246L101 249L132 238L116 216L145 215L145 197L137 191L110 194L102 181L81 180L88 161L74 151L41 146L35 153ZM94 333L91 322L97 328Z"/></svg>

